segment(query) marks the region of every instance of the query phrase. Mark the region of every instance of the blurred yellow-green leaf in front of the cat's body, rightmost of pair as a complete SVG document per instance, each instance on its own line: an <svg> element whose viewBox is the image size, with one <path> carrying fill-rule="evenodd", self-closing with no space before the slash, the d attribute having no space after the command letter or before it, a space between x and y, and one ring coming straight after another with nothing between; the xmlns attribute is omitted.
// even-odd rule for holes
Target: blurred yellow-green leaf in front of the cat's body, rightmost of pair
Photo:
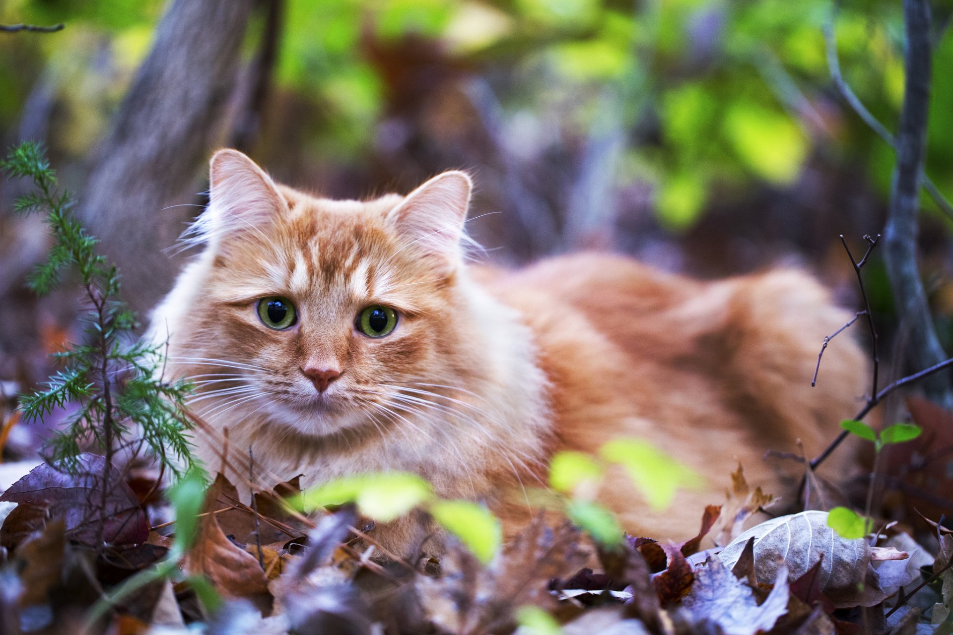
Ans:
<svg viewBox="0 0 953 635"><path fill-rule="evenodd" d="M624 466L649 506L660 511L671 505L679 487L698 488L701 477L688 466L639 439L616 439L602 446L606 461Z"/></svg>

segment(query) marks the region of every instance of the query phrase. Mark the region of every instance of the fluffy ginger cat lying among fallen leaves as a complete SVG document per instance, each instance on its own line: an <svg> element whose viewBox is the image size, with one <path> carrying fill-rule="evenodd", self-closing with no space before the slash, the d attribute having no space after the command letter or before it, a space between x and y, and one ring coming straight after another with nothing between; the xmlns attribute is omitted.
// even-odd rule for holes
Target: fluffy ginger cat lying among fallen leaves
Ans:
<svg viewBox="0 0 953 635"><path fill-rule="evenodd" d="M408 196L333 201L220 150L211 182L193 228L204 248L152 335L168 337L170 367L193 378L193 409L218 431L199 435L198 458L222 465L227 428L239 485L250 447L263 486L407 470L441 496L485 501L509 535L533 515L521 487L546 483L554 452L638 437L705 485L661 513L624 478L598 500L632 534L684 539L739 461L781 493L764 451L801 439L816 453L866 384L843 338L810 387L821 340L848 316L796 270L705 283L598 253L465 264L459 171ZM410 519L372 535L402 556L420 538Z"/></svg>

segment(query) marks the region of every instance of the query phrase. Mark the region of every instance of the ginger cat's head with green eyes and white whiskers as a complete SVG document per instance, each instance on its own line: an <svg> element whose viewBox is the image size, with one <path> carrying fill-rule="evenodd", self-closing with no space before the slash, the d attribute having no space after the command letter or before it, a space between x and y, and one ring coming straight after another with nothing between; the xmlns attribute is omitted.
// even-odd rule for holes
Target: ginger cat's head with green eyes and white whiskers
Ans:
<svg viewBox="0 0 953 635"><path fill-rule="evenodd" d="M407 196L333 201L217 152L193 228L204 251L153 321L198 387L196 411L224 425L261 412L323 436L466 382L478 372L459 289L471 187L450 171Z"/></svg>

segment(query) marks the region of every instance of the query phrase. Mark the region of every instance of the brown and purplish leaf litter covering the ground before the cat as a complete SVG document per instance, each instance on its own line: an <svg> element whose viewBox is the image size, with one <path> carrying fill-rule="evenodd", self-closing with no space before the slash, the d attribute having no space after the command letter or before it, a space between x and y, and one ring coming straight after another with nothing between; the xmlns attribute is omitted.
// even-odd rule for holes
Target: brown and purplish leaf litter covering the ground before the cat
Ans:
<svg viewBox="0 0 953 635"><path fill-rule="evenodd" d="M17 504L0 526L4 633L82 632L102 592L172 553L171 537L149 526L151 508L123 473L106 470L105 507L91 494L103 467L93 455L81 457L78 477L39 466L0 497ZM488 565L453 539L439 561L387 561L373 535L355 529L355 506L308 519L284 502L299 494L293 479L242 501L218 475L178 574L115 602L89 632L860 633L870 610L892 633L942 635L953 625L953 536L942 521L935 562L903 532L883 546L843 539L818 510L742 531L773 498L748 486L740 469L727 500L702 511L690 540L626 536L600 546L540 516ZM710 547L718 541L724 546ZM924 571L937 580L914 588Z"/></svg>

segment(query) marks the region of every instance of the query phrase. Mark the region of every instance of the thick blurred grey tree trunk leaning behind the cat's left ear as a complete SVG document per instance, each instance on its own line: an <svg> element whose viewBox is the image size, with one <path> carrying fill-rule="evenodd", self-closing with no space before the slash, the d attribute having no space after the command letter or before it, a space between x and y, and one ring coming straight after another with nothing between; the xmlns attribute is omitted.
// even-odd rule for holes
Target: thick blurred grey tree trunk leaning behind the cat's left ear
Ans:
<svg viewBox="0 0 953 635"><path fill-rule="evenodd" d="M164 249L195 215L196 173L225 132L253 5L174 0L91 159L80 213L140 313L172 284L177 263Z"/></svg>

